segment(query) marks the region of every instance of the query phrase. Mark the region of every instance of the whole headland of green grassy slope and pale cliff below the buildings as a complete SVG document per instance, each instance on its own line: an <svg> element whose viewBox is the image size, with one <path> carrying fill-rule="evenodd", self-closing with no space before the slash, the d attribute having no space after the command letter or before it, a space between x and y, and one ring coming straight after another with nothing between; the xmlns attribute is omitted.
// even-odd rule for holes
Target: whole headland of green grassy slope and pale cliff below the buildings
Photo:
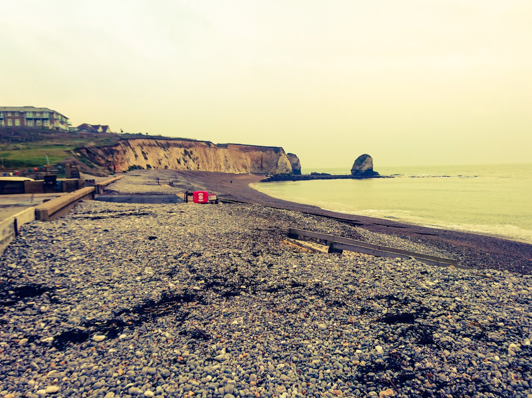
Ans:
<svg viewBox="0 0 532 398"><path fill-rule="evenodd" d="M131 167L264 175L301 172L297 156L288 157L279 146L79 131L5 130L0 137L0 158L4 169L70 163L81 171L100 173Z"/></svg>

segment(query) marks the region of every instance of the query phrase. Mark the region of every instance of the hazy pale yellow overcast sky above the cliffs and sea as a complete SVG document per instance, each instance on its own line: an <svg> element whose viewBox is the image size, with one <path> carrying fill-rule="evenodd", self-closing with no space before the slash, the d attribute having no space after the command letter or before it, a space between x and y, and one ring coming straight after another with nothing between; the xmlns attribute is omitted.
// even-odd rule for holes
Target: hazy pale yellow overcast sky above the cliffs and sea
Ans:
<svg viewBox="0 0 532 398"><path fill-rule="evenodd" d="M0 105L313 167L532 162L530 0L0 0Z"/></svg>

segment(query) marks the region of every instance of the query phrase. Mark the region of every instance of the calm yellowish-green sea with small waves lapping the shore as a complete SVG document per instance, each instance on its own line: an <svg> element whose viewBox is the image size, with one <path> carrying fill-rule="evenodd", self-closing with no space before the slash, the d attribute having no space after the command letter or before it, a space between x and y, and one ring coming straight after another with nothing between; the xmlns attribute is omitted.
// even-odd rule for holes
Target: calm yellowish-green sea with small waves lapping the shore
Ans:
<svg viewBox="0 0 532 398"><path fill-rule="evenodd" d="M395 178L288 181L252 187L326 210L532 243L532 163L376 170ZM349 173L345 169L312 171Z"/></svg>

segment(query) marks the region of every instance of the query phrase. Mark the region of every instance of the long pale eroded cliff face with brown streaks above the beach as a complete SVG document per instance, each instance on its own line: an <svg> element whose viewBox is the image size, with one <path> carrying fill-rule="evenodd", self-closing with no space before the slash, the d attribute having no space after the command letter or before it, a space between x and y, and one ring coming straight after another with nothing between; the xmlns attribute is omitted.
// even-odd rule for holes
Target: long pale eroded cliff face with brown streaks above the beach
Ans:
<svg viewBox="0 0 532 398"><path fill-rule="evenodd" d="M213 144L186 139L122 139L117 145L84 148L93 162L117 171L144 169L199 170L226 173L291 174L292 164L281 147Z"/></svg>

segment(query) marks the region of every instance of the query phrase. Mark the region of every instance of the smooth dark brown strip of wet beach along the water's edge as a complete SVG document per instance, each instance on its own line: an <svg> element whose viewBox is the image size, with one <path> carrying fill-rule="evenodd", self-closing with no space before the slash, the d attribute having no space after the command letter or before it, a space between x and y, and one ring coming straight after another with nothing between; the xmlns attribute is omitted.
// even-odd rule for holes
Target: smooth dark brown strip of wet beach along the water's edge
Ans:
<svg viewBox="0 0 532 398"><path fill-rule="evenodd" d="M356 221L360 228L452 251L464 266L532 273L532 245L527 243L462 231L409 225L362 215L336 213L316 206L280 200L249 186L264 178L259 175L206 171L168 171L168 173L179 176L192 186L215 192L222 198ZM343 236L342 230L339 230L337 235Z"/></svg>

